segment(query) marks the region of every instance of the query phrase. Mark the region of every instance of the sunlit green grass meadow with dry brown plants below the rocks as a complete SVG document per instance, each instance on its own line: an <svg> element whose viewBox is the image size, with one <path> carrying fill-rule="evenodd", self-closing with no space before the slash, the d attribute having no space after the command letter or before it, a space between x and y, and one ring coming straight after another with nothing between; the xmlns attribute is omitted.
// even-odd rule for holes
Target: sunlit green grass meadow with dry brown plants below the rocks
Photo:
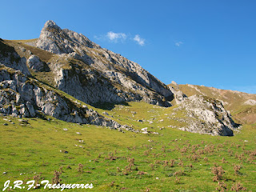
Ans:
<svg viewBox="0 0 256 192"><path fill-rule="evenodd" d="M256 190L255 124L243 126L234 137L213 137L168 127L179 123L168 118L174 107L129 102L128 106L117 105L113 110L98 110L101 114L103 111L134 129L148 127L159 134L122 133L54 118L50 122L28 118L29 124L22 126L18 118L7 117L15 123L11 124L3 120L6 117L0 117L0 188L6 180L26 182L38 174L39 181L51 182L54 170L62 170L62 183L93 183L90 191L216 191L218 182L213 182L210 167L218 164L225 170L222 181L228 189L241 182L247 190ZM147 122L152 119L153 124ZM129 158L134 158L134 163L128 162ZM172 159L174 165L170 166ZM78 171L79 163L83 165L82 172ZM242 167L237 175L234 165ZM2 174L4 171L7 174ZM41 187L36 191L45 190Z"/></svg>

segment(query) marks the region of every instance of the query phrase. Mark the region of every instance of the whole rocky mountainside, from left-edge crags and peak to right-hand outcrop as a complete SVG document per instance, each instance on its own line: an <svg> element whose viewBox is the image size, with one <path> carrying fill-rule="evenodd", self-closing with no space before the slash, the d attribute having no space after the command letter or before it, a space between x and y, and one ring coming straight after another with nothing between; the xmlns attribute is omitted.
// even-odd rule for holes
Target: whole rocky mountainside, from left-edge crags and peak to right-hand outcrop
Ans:
<svg viewBox="0 0 256 192"><path fill-rule="evenodd" d="M46 114L66 122L135 131L87 105L142 101L168 107L176 101L175 110L184 112L182 121L188 125L181 130L233 135L236 127L218 101L199 96L187 98L138 63L103 49L82 34L62 30L52 21L46 22L38 39L0 39L0 64L3 114L20 118Z"/></svg>

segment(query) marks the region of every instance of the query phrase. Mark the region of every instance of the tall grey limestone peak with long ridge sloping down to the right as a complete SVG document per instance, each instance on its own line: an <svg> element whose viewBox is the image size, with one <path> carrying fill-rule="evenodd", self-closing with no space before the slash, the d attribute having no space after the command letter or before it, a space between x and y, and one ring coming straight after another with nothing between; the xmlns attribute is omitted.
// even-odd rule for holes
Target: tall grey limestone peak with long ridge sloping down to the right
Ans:
<svg viewBox="0 0 256 192"><path fill-rule="evenodd" d="M81 65L69 62L69 69L53 61L54 80L60 90L91 105L142 100L170 106L174 97L166 85L138 63L102 49L82 34L62 30L55 22L46 22L38 41L30 45L58 54L59 58L80 61Z"/></svg>

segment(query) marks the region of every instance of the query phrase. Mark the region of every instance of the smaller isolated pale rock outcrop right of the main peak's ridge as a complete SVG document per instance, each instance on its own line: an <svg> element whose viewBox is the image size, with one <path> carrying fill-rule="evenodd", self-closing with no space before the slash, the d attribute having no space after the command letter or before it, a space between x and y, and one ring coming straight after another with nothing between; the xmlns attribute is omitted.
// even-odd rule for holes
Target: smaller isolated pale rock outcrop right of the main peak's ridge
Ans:
<svg viewBox="0 0 256 192"><path fill-rule="evenodd" d="M186 113L188 126L186 130L200 134L233 136L233 130L238 127L231 118L230 112L222 106L222 102L202 95L186 98L177 108Z"/></svg>

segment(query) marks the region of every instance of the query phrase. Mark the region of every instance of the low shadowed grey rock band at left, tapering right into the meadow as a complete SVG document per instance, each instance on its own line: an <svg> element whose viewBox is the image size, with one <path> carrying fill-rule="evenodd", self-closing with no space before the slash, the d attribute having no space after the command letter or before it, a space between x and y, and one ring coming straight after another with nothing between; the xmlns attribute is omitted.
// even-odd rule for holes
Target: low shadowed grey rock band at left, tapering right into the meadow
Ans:
<svg viewBox="0 0 256 192"><path fill-rule="evenodd" d="M29 118L42 113L66 122L90 123L114 129L122 127L20 72L3 65L0 67L0 112L3 114Z"/></svg>

